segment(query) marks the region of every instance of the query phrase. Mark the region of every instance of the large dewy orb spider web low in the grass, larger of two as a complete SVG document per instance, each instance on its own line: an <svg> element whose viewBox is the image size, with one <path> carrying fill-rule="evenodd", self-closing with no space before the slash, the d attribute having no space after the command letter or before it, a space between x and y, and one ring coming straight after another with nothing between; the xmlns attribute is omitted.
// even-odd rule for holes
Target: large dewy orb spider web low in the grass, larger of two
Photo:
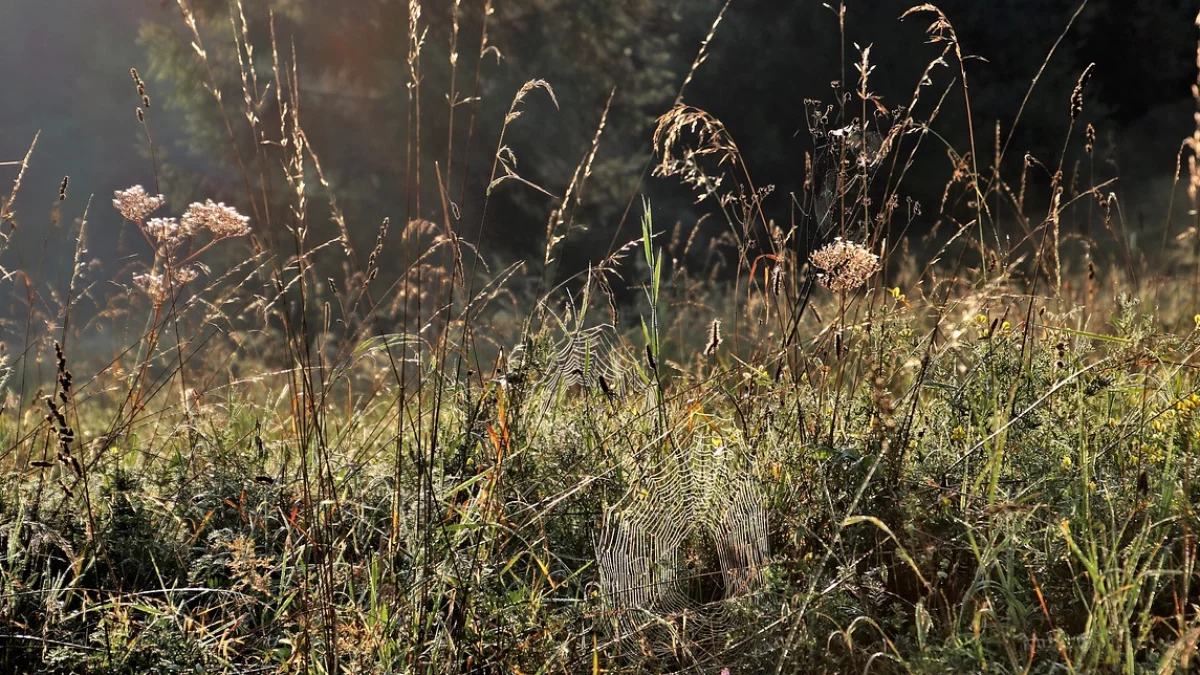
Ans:
<svg viewBox="0 0 1200 675"><path fill-rule="evenodd" d="M701 661L744 620L769 556L745 464L708 443L676 450L605 512L596 563L622 651Z"/></svg>

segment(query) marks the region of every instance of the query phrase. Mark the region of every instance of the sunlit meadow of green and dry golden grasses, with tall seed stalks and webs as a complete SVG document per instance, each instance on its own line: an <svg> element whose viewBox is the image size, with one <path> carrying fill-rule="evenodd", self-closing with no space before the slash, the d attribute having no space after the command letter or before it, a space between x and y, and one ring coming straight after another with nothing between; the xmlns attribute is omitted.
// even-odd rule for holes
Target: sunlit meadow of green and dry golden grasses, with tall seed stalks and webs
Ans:
<svg viewBox="0 0 1200 675"><path fill-rule="evenodd" d="M1062 95L1061 154L1006 175L1034 121L972 109L971 46L919 5L899 20L938 53L911 97L875 95L857 48L835 98L798 112L804 189L778 195L686 103L718 14L644 179L686 186L726 233L697 240L628 193L640 232L576 273L559 255L581 196L607 190L607 107L565 190L505 143L552 124L527 110L557 104L556 83L510 92L480 193L455 189L456 148L415 132L396 149L409 193L437 198L362 247L305 132L304 52L274 22L256 43L235 0L220 40L236 58L217 62L179 6L242 191L185 207L150 187L158 108L133 71L145 186L109 207L65 179L46 249L68 277L0 270L20 309L0 352L0 670L1195 667L1200 115L1176 217L1134 249L1080 118L1090 70ZM461 92L425 89L420 10L409 121L473 125ZM952 106L970 147L937 131ZM905 192L930 148L941 203ZM20 198L36 153L0 165L0 256L37 217ZM536 258L476 246L508 190L553 202ZM88 223L108 208L145 240L115 271L86 253L114 235ZM923 213L936 227L911 232Z"/></svg>

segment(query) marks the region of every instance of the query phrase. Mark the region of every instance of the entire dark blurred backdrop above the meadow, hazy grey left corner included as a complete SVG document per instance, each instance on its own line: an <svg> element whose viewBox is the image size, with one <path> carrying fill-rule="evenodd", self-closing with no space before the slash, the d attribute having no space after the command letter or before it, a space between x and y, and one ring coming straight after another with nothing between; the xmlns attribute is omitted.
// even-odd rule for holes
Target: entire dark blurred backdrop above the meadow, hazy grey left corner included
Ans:
<svg viewBox="0 0 1200 675"><path fill-rule="evenodd" d="M206 47L222 80L226 101L240 119L241 92L226 0L193 0ZM929 44L929 16L899 20L910 1L852 0L846 4L846 50L841 53L834 12L815 0L733 0L716 30L709 59L684 100L721 119L738 142L756 184L773 185L768 216L786 221L787 195L804 181L804 100L833 98L830 82L841 62L857 58L854 43L872 44L872 89L886 104L908 100L918 76L941 47ZM967 62L980 166L992 155L995 125L1008 133L1028 84L1078 2L1060 0L944 0L964 49L984 60ZM1097 175L1117 177L1115 191L1133 232L1157 240L1181 141L1193 129L1195 102L1195 1L1092 0L1050 60L1027 104L1003 172L1015 177L1030 153L1054 163L1069 141L1070 157L1082 156L1082 125L1099 135ZM460 231L474 238L504 113L529 78L548 80L559 109L541 91L530 92L524 114L512 124L506 144L524 178L562 195L584 156L610 91L616 96L594 174L559 275L602 257L613 240L636 235L636 219L623 222L637 195L650 196L658 223L692 226L706 213L673 179L650 178L650 132L670 109L696 50L721 4L713 0L524 0L496 2L488 40L502 58L486 58L479 88L481 0L460 6L460 95L476 103L457 109L455 129L446 119L448 41L451 4L425 2L422 25L421 208L407 189L408 124L407 2L389 0L246 0L256 43L256 67L270 73L268 8L280 38L294 44L301 83L301 119L344 208L360 250L372 245L378 222L407 216L438 220L436 171L455 149L448 177L457 202ZM154 100L151 129L158 145L161 190L172 213L203 197L241 203L244 187L234 169L223 123L200 82L191 37L174 1L160 0L7 0L0 2L0 161L19 160L34 132L42 131L14 210L22 232L0 263L61 274L70 255L43 253L49 211L61 178L71 175L64 221L83 213L95 195L89 255L108 265L143 255L128 225L109 205L112 192L131 184L151 186L154 173L143 129L134 119L137 96L130 67L146 78ZM286 54L289 56L289 54ZM1087 64L1094 76L1084 115L1064 138L1072 88ZM935 71L943 89L958 77L956 64ZM852 71L847 78L853 77ZM470 143L468 120L474 114ZM271 112L264 117L270 120ZM935 130L960 151L968 147L961 90L947 97ZM248 138L238 142L247 143ZM926 204L914 232L937 220L932 208L950 175L944 150L930 145L902 192ZM0 167L8 183L16 167ZM1015 178L1014 178L1015 180ZM1045 183L1043 180L1043 183ZM314 222L324 223L319 189L310 177ZM1042 197L1031 179L1031 202ZM1180 191L1182 195L1182 190ZM554 201L508 183L488 204L484 249L497 258L540 259L546 214ZM1044 207L1043 207L1044 208ZM636 209L635 209L636 211ZM1178 217L1186 213L1175 209ZM1178 220L1178 217L1176 220ZM1001 223L1002 225L1002 223ZM704 223L712 233L724 226ZM1178 223L1175 227L1180 227ZM331 232L331 229L330 229ZM706 231L707 232L707 231ZM707 235L707 234L706 234ZM1136 235L1135 235L1136 237ZM1145 238L1144 238L1145 239ZM143 246L144 247L144 246Z"/></svg>

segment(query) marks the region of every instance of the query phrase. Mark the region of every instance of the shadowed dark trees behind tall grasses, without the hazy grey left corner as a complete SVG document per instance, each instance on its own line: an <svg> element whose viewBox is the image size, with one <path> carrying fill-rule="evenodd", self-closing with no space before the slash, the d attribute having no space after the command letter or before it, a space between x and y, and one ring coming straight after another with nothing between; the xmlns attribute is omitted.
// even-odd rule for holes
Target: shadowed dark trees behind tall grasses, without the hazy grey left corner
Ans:
<svg viewBox="0 0 1200 675"><path fill-rule="evenodd" d="M488 48L482 54L484 0L421 4L419 199L412 169L418 131L409 4L270 0L246 5L260 76L271 68L269 8L275 12L276 35L288 64L294 46L301 120L362 249L370 247L384 216L439 220L440 174L462 235L475 238L486 204L481 239L487 250L536 258L533 253L545 243L546 214L557 205L556 198L515 181L497 185L484 198L494 175L505 113L522 83L533 78L550 83L557 109L544 91L529 92L521 104L523 114L505 131L505 160L515 162L523 179L556 197L588 154L612 94L592 175L575 214L586 228L570 234L560 274L594 262L614 240L636 234L635 222L624 216L640 193L650 196L667 225L678 220L690 226L707 208L694 204L692 195L674 181L652 178L647 168L653 160L649 138L655 119L676 101L721 8L716 0L498 0L488 4L493 13L487 17ZM832 102L835 83L857 77L852 67L858 58L856 44L872 46L872 89L884 106L906 101L926 64L938 54L938 46L925 43L928 20L899 20L910 5L908 0L847 2L845 36L835 8L815 0L736 0L726 11L684 101L722 120L755 181L774 186L770 217L790 217L787 196L805 179L804 153L811 149L805 100ZM192 6L217 66L224 101L236 110L241 85L229 5L194 0ZM1031 80L1078 2L944 0L938 6L966 53L979 56L967 61L967 78L978 161L985 165L992 156L996 124L1003 136L1009 133ZM1103 174L1118 175L1122 198L1136 203L1150 219L1160 217L1162 204L1154 201L1158 193L1152 186L1171 174L1178 143L1192 125L1196 10L1196 2L1183 0L1091 0L1045 61L1014 133L1016 151L1008 153L1002 172L1019 172L1026 153L1050 163L1068 141L1072 156L1081 156L1084 124L1092 124L1099 136L1097 157L1103 160ZM457 59L451 68L455 25ZM170 190L179 195L223 191L236 201L240 185L232 171L227 132L203 89L208 73L197 64L178 11L164 10L160 19L145 25L142 42L156 86L169 91L167 114L182 123L187 138L187 159L169 162L166 169ZM1069 95L1092 62L1096 68L1085 91L1084 113L1074 137L1067 139ZM458 101L452 117L451 77ZM936 71L936 77L938 86L946 88L959 73L955 66ZM935 126L953 147L970 145L960 89L947 96ZM236 142L254 139L244 135ZM952 167L943 150L930 148L922 153L906 191L932 207ZM1031 179L1030 189L1036 196L1036 180ZM317 202L314 209L319 209ZM924 213L918 227L931 227L936 209ZM313 220L322 220L320 215L314 211ZM623 222L624 235L616 233Z"/></svg>

